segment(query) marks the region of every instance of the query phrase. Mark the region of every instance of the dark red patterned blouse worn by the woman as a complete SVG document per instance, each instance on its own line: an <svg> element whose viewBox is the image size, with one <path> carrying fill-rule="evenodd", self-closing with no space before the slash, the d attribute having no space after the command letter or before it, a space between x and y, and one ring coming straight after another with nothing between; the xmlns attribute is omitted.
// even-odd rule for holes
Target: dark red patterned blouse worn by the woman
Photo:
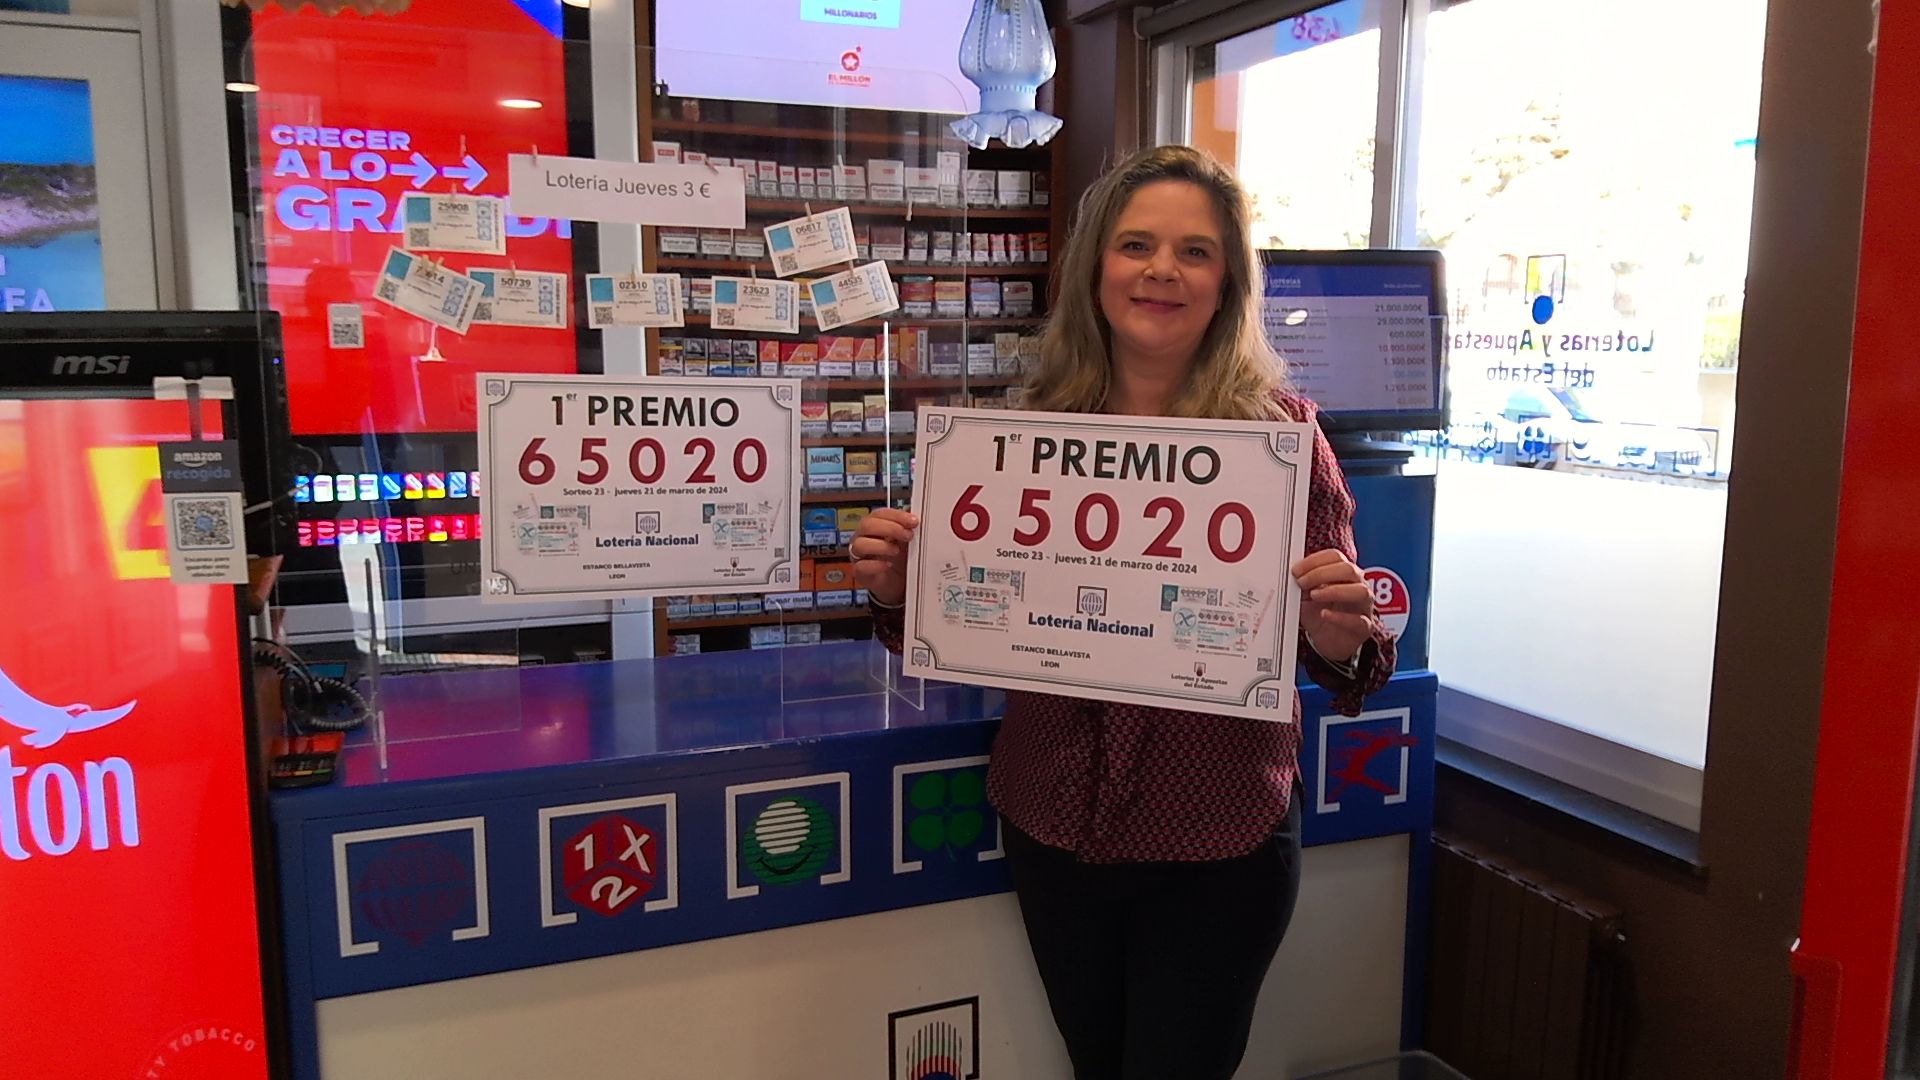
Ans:
<svg viewBox="0 0 1920 1080"><path fill-rule="evenodd" d="M1313 423L1311 402L1281 394ZM1354 552L1354 494L1327 438L1313 432L1308 553ZM904 613L874 609L879 640L900 650ZM1306 634L1300 665L1356 715L1394 675L1394 640L1375 625L1352 675L1327 663ZM987 767L995 809L1043 844L1087 863L1231 859L1260 846L1286 817L1300 761L1294 723L1012 692Z"/></svg>

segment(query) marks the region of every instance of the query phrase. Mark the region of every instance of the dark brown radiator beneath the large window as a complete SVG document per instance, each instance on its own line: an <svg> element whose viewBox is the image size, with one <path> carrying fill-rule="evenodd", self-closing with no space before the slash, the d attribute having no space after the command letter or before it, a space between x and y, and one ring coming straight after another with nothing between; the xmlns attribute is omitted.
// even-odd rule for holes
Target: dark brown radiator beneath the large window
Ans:
<svg viewBox="0 0 1920 1080"><path fill-rule="evenodd" d="M1620 915L1434 836L1427 1045L1473 1080L1622 1080Z"/></svg>

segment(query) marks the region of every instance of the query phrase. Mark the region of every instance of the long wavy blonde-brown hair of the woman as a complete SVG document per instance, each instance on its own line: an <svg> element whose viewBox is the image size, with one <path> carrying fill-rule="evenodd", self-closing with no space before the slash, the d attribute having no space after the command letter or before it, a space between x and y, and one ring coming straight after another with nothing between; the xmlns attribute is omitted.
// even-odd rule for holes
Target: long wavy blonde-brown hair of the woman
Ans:
<svg viewBox="0 0 1920 1080"><path fill-rule="evenodd" d="M1073 213L1060 259L1060 294L1041 334L1041 361L1027 379L1027 407L1060 413L1106 409L1114 384L1114 331L1100 311L1100 259L1133 192L1158 181L1200 186L1227 227L1221 304L1200 338L1187 386L1167 404L1171 417L1292 419L1275 402L1286 367L1260 327L1260 282L1246 190L1212 154L1190 146L1140 150L1094 181Z"/></svg>

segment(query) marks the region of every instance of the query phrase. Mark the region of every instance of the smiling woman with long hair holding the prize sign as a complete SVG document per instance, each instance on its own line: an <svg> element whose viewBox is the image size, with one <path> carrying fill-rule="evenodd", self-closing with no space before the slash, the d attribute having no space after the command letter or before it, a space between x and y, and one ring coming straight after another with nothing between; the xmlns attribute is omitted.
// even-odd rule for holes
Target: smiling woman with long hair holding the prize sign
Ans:
<svg viewBox="0 0 1920 1080"><path fill-rule="evenodd" d="M1081 200L1027 405L1290 419L1315 407L1265 344L1246 194L1185 146L1135 154ZM1354 565L1354 498L1315 430L1300 663L1356 715L1394 669ZM918 521L874 511L854 577L899 648ZM1300 886L1294 723L1010 694L987 792L1079 1080L1229 1080Z"/></svg>

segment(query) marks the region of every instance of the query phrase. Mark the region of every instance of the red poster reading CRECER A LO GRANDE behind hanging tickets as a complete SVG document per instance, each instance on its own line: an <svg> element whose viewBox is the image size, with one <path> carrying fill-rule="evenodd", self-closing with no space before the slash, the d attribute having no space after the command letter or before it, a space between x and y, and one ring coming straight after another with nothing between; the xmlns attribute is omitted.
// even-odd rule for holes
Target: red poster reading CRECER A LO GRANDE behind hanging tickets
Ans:
<svg viewBox="0 0 1920 1080"><path fill-rule="evenodd" d="M403 238L401 192L505 196L507 154L566 152L557 29L559 0L253 15L267 298L286 334L296 434L470 432L474 373L576 371L572 329L432 332L374 300ZM505 258L434 258L457 271L572 273L570 236L566 221L509 217ZM363 346L334 348L330 304L359 306Z"/></svg>

